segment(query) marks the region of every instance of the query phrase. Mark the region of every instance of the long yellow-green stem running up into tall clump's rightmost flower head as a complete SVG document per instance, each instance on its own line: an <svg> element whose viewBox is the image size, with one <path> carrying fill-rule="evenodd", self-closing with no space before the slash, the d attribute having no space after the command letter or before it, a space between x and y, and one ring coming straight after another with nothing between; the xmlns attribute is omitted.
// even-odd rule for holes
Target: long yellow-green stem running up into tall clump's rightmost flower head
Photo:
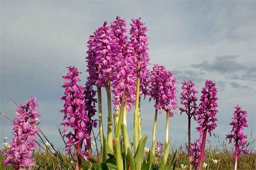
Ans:
<svg viewBox="0 0 256 170"><path fill-rule="evenodd" d="M136 102L134 109L134 153L137 150L139 144L139 103L140 103L140 61L137 65L137 82L136 82Z"/></svg>

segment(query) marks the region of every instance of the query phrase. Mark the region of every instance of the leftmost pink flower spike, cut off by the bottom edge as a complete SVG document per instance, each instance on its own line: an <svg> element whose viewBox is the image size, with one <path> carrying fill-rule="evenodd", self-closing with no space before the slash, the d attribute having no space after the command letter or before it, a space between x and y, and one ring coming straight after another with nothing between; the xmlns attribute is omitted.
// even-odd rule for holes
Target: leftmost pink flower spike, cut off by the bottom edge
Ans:
<svg viewBox="0 0 256 170"><path fill-rule="evenodd" d="M16 109L17 116L12 125L12 134L15 137L10 143L12 146L4 154L6 156L5 166L12 164L15 170L25 170L25 168L30 170L31 166L35 164L32 154L36 149L35 140L38 139L35 133L39 131L36 118L40 117L40 113L37 108L36 98L32 99L31 97L25 105L20 104L20 107Z"/></svg>

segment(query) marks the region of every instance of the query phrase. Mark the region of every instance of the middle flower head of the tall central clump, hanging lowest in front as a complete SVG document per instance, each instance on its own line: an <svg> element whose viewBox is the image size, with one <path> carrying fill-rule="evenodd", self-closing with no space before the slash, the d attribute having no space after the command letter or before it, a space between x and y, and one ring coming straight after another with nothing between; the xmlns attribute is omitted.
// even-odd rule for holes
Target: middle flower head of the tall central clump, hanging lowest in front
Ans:
<svg viewBox="0 0 256 170"><path fill-rule="evenodd" d="M114 57L114 68L113 68L113 104L117 106L124 104L128 111L131 111L131 105L135 102L135 91L136 91L136 65L134 63L134 56L128 47L127 35L126 35L126 23L125 20L121 20L120 17L116 17L116 21L111 23L111 29L114 34L115 50L113 53Z"/></svg>

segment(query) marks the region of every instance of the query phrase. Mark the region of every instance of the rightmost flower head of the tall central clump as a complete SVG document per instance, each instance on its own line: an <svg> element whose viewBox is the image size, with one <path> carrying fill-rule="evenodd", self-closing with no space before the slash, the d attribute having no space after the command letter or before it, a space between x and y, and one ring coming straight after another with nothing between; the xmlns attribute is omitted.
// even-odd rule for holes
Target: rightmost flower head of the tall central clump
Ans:
<svg viewBox="0 0 256 170"><path fill-rule="evenodd" d="M130 47L134 56L134 62L137 65L137 73L140 74L140 95L148 95L149 70L147 66L150 65L147 53L148 37L145 34L147 31L145 24L140 22L140 19L132 19L133 23L129 33L131 35Z"/></svg>

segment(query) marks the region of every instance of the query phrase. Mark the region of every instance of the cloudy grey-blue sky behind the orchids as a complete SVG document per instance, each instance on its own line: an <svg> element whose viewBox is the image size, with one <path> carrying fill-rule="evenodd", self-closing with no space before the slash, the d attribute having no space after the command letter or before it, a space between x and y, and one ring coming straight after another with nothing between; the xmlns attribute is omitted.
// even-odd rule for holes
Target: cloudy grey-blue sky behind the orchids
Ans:
<svg viewBox="0 0 256 170"><path fill-rule="evenodd" d="M180 105L181 83L193 79L199 92L206 79L218 88L217 127L220 140L229 126L237 104L247 111L244 133L256 138L256 1L0 1L0 111L15 118L17 106L31 96L37 98L39 127L55 147L64 147L57 127L63 129L66 66L78 68L84 86L88 76L87 41L93 32L120 16L131 28L131 19L147 27L148 55L154 64L173 71ZM103 90L102 90L103 91ZM103 125L107 133L106 94L103 93ZM154 102L141 103L142 134L151 146ZM94 117L98 119L98 116ZM157 118L156 139L164 142L166 114ZM191 139L198 139L198 123L192 120ZM98 133L98 128L93 129ZM13 135L11 122L0 115L0 141ZM133 111L128 113L128 133L133 138ZM172 145L187 141L187 116L170 118ZM210 139L215 143L216 139ZM218 140L216 142L218 144ZM256 144L253 144L256 147Z"/></svg>

